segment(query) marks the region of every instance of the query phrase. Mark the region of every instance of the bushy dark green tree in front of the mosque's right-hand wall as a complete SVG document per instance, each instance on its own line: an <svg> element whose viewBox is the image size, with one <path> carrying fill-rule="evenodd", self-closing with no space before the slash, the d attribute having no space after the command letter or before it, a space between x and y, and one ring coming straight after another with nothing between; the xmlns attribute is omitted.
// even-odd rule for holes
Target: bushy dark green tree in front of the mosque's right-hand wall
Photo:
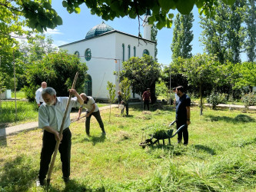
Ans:
<svg viewBox="0 0 256 192"><path fill-rule="evenodd" d="M123 70L118 77L122 81L125 78L131 81L132 91L142 96L147 88L151 88L151 100L155 98L155 81L161 74L161 66L149 55L142 58L130 58L123 62ZM154 100L155 98L155 100Z"/></svg>

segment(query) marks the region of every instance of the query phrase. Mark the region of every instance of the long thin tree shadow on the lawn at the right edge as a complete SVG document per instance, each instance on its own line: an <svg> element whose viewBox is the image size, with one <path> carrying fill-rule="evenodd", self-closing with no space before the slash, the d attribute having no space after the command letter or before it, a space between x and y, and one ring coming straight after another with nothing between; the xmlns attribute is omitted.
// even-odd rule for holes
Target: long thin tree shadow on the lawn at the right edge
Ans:
<svg viewBox="0 0 256 192"><path fill-rule="evenodd" d="M246 114L238 114L235 118L229 118L226 116L214 116L214 115L206 115L205 118L210 118L211 121L226 121L231 123L237 123L237 122L254 122L255 119L251 118L250 116Z"/></svg>

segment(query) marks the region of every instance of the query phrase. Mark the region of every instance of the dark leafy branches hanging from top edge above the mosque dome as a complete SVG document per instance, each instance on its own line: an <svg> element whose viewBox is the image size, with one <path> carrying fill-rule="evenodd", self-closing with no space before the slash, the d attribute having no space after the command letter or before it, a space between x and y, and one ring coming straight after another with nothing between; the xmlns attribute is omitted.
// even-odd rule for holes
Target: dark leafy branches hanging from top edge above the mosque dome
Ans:
<svg viewBox="0 0 256 192"><path fill-rule="evenodd" d="M228 5L232 5L234 0L223 0ZM156 27L171 27L173 14L170 11L177 9L183 15L188 15L194 5L200 10L200 14L211 16L214 15L214 7L218 5L217 0L149 0L149 1L132 1L132 0L65 0L62 5L67 8L69 13L74 12L81 4L85 3L91 9L91 14L98 15L104 20L114 20L114 18L125 17L140 18L145 14L145 10L150 10L152 15L148 18L149 24L157 22ZM80 12L80 8L79 8Z"/></svg>

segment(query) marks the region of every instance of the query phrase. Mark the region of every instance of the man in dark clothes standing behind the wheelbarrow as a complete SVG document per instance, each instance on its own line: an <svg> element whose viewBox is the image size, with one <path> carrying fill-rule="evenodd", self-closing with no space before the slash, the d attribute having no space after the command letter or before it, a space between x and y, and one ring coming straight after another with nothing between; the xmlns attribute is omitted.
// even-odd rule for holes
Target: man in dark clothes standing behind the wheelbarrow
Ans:
<svg viewBox="0 0 256 192"><path fill-rule="evenodd" d="M185 94L185 90L182 86L178 86L176 88L176 93L179 97L179 100L176 104L176 124L177 129L181 127L181 125L186 124L185 127L178 133L178 144L181 143L182 135L184 144L188 145L188 125L190 122L190 106L191 99Z"/></svg>

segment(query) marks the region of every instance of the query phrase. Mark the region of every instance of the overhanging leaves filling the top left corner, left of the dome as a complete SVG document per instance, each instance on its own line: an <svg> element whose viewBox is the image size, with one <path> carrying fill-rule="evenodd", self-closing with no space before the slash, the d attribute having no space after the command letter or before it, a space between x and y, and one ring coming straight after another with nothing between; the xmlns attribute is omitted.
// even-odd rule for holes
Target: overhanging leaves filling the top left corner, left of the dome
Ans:
<svg viewBox="0 0 256 192"><path fill-rule="evenodd" d="M47 31L47 28L55 28L57 25L62 25L62 18L58 16L51 4L52 0L1 1L0 12L4 13L0 15L0 20L2 21L1 33L5 35L11 34L7 31L2 32L2 29L8 28L8 25L12 24L12 22L20 23L22 17L28 19L23 21L25 25L40 32ZM22 25L13 25L13 27L21 28ZM11 29L12 31L15 30Z"/></svg>

